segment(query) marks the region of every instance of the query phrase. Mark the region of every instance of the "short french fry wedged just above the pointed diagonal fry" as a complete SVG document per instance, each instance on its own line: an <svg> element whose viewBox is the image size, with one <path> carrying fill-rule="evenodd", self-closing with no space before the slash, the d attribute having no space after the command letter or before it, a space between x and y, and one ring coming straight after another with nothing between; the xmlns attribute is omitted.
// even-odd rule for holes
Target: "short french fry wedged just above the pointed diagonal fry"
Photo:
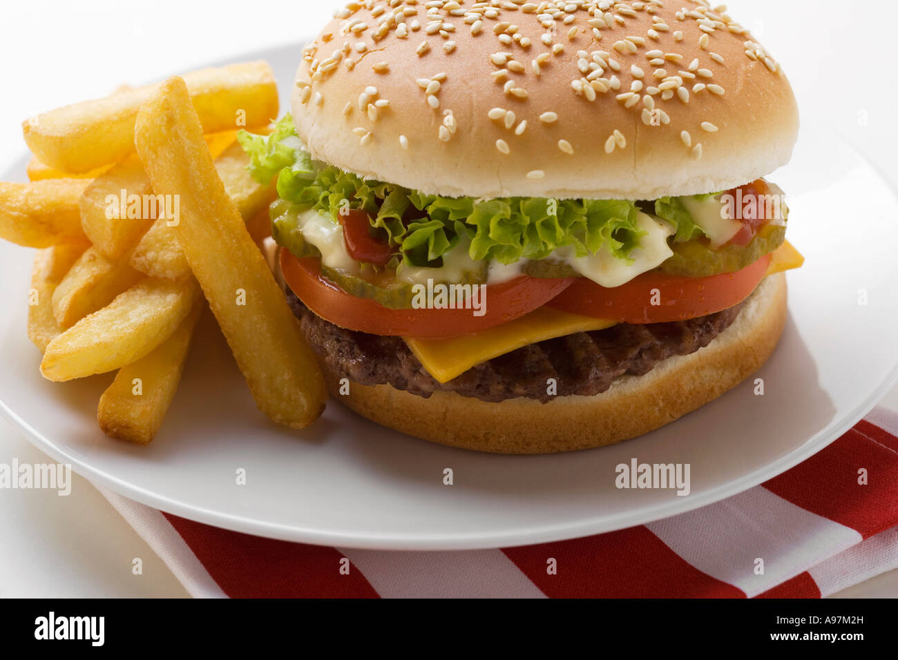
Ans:
<svg viewBox="0 0 898 660"><path fill-rule="evenodd" d="M60 328L67 330L143 278L127 259L108 260L92 246L75 261L53 292L53 317Z"/></svg>

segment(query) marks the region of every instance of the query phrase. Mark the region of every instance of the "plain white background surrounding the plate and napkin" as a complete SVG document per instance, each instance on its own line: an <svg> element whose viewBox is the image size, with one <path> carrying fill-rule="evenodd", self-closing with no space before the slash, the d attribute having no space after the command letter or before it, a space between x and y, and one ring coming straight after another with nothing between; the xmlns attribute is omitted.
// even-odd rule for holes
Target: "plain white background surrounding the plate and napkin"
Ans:
<svg viewBox="0 0 898 660"><path fill-rule="evenodd" d="M668 0L674 2L675 0ZM0 9L0 154L24 153L22 119L260 48L308 38L342 2L295 0L82 0L4 3ZM863 13L824 0L738 0L729 13L753 30L786 70L804 117L823 119L898 182L898 3L869 0ZM855 5L855 9L859 9ZM872 17L872 19L871 19ZM884 68L885 74L884 75ZM278 81L290 84L292 81ZM22 172L22 178L24 172ZM794 218L793 222L813 222ZM850 208L846 209L850 224ZM896 219L898 222L898 219ZM846 250L850 233L833 236ZM862 255L858 253L858 258ZM22 329L24 331L24 329ZM0 365L2 368L2 365ZM898 409L898 390L886 404ZM46 462L0 421L0 462ZM180 584L85 480L72 495L0 490L0 596L179 596ZM132 560L143 575L132 575ZM898 595L898 572L845 595Z"/></svg>

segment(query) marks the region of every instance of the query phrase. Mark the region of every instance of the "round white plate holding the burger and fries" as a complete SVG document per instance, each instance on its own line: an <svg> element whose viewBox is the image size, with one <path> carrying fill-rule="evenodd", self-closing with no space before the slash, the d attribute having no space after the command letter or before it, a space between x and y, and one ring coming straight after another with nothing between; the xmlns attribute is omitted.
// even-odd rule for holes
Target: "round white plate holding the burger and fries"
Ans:
<svg viewBox="0 0 898 660"><path fill-rule="evenodd" d="M299 48L253 54L282 90ZM237 58L235 58L236 61ZM286 106L285 106L286 107ZM22 179L24 159L4 172ZM898 205L832 131L802 129L772 177L789 196L785 334L752 383L647 436L550 456L469 453L401 436L330 402L312 429L255 409L214 322L199 331L154 444L110 440L95 409L110 376L48 383L25 335L31 251L0 242L0 409L40 449L127 497L208 524L290 541L405 550L474 549L643 524L734 495L788 470L861 418L898 376ZM858 304L861 290L867 304ZM691 464L691 495L619 490L614 467ZM454 485L443 484L452 468ZM245 469L247 483L235 484Z"/></svg>

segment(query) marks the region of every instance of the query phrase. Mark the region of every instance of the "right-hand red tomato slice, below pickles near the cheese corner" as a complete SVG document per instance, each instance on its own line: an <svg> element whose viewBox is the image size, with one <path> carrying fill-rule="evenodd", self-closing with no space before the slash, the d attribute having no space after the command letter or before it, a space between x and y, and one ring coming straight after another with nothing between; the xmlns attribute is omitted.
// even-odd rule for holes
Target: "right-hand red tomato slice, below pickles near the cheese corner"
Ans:
<svg viewBox="0 0 898 660"><path fill-rule="evenodd" d="M562 312L622 323L685 321L741 303L761 282L769 264L770 254L765 254L735 273L711 277L650 271L614 288L580 277L549 305Z"/></svg>

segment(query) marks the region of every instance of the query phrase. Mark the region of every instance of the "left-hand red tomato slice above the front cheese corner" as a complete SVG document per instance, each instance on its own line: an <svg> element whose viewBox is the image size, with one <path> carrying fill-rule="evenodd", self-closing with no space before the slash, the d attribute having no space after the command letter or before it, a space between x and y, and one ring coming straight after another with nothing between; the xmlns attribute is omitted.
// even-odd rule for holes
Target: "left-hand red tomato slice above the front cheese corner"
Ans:
<svg viewBox="0 0 898 660"><path fill-rule="evenodd" d="M523 276L489 285L482 294L485 313L475 316L471 309L393 310L368 298L350 295L321 277L318 258L296 259L290 251L282 250L280 265L287 285L322 319L349 330L419 339L469 334L513 321L548 303L577 279Z"/></svg>

